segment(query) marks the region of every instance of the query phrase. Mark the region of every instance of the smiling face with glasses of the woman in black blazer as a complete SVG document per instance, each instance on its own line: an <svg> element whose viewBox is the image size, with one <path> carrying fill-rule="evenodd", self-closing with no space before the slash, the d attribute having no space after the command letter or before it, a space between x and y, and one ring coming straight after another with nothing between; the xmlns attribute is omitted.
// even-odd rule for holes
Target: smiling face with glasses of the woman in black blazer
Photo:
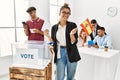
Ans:
<svg viewBox="0 0 120 80"><path fill-rule="evenodd" d="M63 10L61 10L61 12L60 12L60 20L67 21L69 16L70 16L70 10L69 9L64 8Z"/></svg>

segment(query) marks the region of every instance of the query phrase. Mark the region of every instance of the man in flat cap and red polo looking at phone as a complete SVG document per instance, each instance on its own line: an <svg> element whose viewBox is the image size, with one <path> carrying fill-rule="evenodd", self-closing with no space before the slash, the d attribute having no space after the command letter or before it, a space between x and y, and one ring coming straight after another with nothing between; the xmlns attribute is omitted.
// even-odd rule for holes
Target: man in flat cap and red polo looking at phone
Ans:
<svg viewBox="0 0 120 80"><path fill-rule="evenodd" d="M23 22L24 32L28 36L28 40L44 41L44 32L49 30L49 25L43 19L36 15L36 8L29 7L26 11L31 19Z"/></svg>

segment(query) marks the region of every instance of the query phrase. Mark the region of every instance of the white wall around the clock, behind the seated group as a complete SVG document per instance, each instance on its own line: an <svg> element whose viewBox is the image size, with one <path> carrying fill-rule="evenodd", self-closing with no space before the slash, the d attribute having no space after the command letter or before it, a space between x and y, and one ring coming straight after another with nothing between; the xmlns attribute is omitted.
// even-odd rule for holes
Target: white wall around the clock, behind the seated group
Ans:
<svg viewBox="0 0 120 80"><path fill-rule="evenodd" d="M69 4L72 4L72 19L70 20L77 23L80 28L86 18L96 19L100 26L106 28L106 32L112 37L113 46L115 49L120 50L120 13L115 17L109 17L107 15L107 8L115 6L120 10L120 0L67 0Z"/></svg>

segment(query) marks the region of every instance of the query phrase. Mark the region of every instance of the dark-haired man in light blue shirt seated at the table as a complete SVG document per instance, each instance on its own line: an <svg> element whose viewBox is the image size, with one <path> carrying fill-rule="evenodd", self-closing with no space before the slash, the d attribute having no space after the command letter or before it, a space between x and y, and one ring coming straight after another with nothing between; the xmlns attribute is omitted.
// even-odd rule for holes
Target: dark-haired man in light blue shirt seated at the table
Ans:
<svg viewBox="0 0 120 80"><path fill-rule="evenodd" d="M93 40L94 43L97 43L97 45L94 45L95 48L105 48L106 46L111 49L112 48L112 42L109 35L105 34L105 28L99 27L97 31L97 36Z"/></svg>

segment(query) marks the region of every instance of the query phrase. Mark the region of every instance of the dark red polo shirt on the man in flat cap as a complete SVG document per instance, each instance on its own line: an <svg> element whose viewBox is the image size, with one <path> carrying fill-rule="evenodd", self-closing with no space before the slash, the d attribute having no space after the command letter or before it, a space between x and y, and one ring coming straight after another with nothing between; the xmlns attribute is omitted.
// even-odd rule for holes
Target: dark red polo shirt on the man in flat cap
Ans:
<svg viewBox="0 0 120 80"><path fill-rule="evenodd" d="M44 41L44 36L39 34L39 33L32 33L30 31L30 29L39 29L41 31L42 26L44 24L44 20L38 18L36 20L28 20L26 22L26 24L28 25L28 31L29 31L29 35L28 35L28 40L39 40L39 41Z"/></svg>

